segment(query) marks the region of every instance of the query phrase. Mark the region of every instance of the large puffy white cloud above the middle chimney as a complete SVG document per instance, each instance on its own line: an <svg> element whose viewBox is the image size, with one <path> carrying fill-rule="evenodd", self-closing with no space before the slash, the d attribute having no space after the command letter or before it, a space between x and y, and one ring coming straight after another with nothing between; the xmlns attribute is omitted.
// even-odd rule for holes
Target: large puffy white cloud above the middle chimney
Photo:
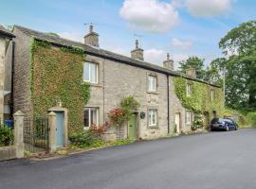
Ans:
<svg viewBox="0 0 256 189"><path fill-rule="evenodd" d="M170 3L159 0L125 0L120 16L132 28L166 32L178 23L178 12Z"/></svg>

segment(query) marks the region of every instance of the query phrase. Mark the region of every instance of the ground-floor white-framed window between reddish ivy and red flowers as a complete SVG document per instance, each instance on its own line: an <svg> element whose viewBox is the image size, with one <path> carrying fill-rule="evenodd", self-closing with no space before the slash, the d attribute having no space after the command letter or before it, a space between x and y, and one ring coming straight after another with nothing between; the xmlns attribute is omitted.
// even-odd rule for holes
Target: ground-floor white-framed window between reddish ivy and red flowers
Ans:
<svg viewBox="0 0 256 189"><path fill-rule="evenodd" d="M84 108L83 127L99 126L99 108Z"/></svg>

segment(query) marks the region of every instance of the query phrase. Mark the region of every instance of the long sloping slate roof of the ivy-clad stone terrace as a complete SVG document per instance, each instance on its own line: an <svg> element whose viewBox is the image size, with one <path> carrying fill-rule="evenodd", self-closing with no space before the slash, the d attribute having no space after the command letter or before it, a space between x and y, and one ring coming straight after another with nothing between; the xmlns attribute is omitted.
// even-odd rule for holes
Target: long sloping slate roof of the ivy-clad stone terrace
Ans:
<svg viewBox="0 0 256 189"><path fill-rule="evenodd" d="M210 84L211 86L214 87L220 87L214 84L211 84L210 82L198 79L196 77L188 77L180 72L176 72L176 71L172 71L169 69L166 69L164 67L155 65L153 63L150 62L146 62L146 61L142 61L142 60L134 60L132 58L123 56L123 55L119 55L117 53L108 51L108 50L104 50L101 49L99 47L93 47L84 43L78 43L78 42L74 42L74 41L70 41L70 40L66 40L64 38L61 37L57 37L57 36L52 36L48 33L44 33L44 32L40 32L40 31L36 31L33 29L29 29L27 27L24 26L14 26L16 28L18 28L19 30L21 30L22 32L24 32L25 34L27 34L28 36L36 39L36 40L40 40L40 41L47 41L50 43L53 43L55 45L58 46L76 46L76 47L81 47L84 52L86 54L89 55L93 55L93 56L97 56L97 57L101 57L103 59L107 59L107 60L115 60L118 61L120 63L125 63L125 64L129 64L129 65L133 65L136 67L140 67L140 68L144 68L144 69L148 69L148 70L152 70L158 73L162 73L162 74L166 74L166 75L170 75L170 76L174 76L174 77L185 77L191 80L195 80L198 82L202 82L202 83L206 83L206 84Z"/></svg>

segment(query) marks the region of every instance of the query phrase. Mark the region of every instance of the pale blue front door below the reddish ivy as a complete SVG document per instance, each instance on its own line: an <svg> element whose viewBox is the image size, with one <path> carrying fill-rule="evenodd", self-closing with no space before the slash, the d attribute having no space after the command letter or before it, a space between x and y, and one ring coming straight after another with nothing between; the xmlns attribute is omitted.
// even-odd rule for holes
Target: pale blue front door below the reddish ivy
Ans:
<svg viewBox="0 0 256 189"><path fill-rule="evenodd" d="M55 112L57 122L56 147L64 146L64 112Z"/></svg>

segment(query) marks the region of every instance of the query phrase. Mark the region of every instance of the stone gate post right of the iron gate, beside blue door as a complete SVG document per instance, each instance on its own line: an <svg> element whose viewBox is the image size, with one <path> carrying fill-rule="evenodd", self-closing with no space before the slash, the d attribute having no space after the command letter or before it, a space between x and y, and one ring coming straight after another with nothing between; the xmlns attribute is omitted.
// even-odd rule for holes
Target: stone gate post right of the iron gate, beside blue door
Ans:
<svg viewBox="0 0 256 189"><path fill-rule="evenodd" d="M56 113L48 113L48 127L49 127L49 150L54 152L56 150Z"/></svg>

